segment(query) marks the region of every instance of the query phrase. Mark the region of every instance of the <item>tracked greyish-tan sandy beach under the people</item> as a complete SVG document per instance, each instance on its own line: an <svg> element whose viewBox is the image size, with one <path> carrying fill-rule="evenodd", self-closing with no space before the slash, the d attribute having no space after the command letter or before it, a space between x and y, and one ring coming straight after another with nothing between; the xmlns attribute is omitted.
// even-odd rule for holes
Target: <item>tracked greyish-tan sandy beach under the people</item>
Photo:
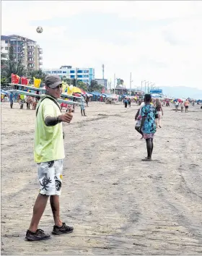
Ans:
<svg viewBox="0 0 202 256"><path fill-rule="evenodd" d="M25 108L25 106L24 106ZM153 162L135 131L138 106L89 103L63 124L61 219L72 234L26 242L38 195L35 111L1 104L1 255L201 255L202 110L164 107ZM48 204L40 229L53 229Z"/></svg>

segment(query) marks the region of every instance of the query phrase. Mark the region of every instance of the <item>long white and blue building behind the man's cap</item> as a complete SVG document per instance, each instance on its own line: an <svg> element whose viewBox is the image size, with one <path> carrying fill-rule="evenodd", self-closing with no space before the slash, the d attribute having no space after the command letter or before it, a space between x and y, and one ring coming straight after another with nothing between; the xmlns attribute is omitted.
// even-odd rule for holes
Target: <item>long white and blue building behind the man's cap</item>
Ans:
<svg viewBox="0 0 202 256"><path fill-rule="evenodd" d="M59 77L77 79L84 83L90 83L95 80L95 69L92 67L71 67L61 66L59 69L43 69L45 74L57 74Z"/></svg>

